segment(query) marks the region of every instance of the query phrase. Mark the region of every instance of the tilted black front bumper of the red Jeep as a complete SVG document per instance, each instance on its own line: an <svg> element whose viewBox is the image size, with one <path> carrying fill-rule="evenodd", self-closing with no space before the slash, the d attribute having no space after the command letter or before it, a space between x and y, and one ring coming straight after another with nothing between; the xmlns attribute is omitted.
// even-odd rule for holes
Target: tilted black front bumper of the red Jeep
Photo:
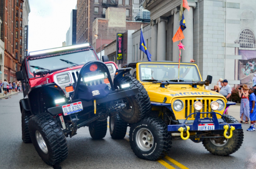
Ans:
<svg viewBox="0 0 256 169"><path fill-rule="evenodd" d="M118 99L130 97L130 96L136 95L138 93L138 91L139 91L139 88L129 89L129 90L121 91L121 92L119 92L117 90L116 91L110 91L109 94L106 97L97 99L96 104L102 104L102 103L106 103L106 102L115 101L115 100L118 100ZM81 99L72 100L72 102L70 102L70 103L76 103L76 102L80 102L80 101L82 102L82 105L83 105L84 109L86 107L93 106L93 101L84 101L84 100L81 100ZM70 104L70 103L67 103L67 104ZM57 114L63 113L62 106L49 108L48 112L51 115L56 116Z"/></svg>

